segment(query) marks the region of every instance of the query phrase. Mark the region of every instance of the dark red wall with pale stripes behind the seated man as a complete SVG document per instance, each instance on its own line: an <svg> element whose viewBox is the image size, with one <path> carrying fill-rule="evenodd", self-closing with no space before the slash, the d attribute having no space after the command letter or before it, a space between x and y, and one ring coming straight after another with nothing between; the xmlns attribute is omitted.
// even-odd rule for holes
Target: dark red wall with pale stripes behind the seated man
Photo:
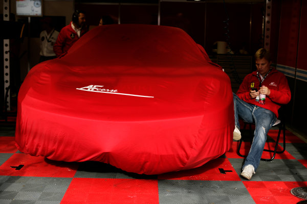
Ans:
<svg viewBox="0 0 307 204"><path fill-rule="evenodd" d="M303 108L307 91L307 1L283 0L280 4L277 69L287 76L292 93L287 121L307 134L307 110Z"/></svg>

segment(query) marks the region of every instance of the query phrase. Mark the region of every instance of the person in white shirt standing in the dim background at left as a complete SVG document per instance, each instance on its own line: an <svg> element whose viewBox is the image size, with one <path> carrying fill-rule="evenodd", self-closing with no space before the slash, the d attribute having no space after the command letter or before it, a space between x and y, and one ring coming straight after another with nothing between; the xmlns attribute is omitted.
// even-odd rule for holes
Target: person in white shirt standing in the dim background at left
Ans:
<svg viewBox="0 0 307 204"><path fill-rule="evenodd" d="M53 45L59 35L59 32L54 30L52 18L45 17L41 20L42 32L39 35L40 38L40 58L39 62L46 60L52 60L56 58L53 52Z"/></svg>

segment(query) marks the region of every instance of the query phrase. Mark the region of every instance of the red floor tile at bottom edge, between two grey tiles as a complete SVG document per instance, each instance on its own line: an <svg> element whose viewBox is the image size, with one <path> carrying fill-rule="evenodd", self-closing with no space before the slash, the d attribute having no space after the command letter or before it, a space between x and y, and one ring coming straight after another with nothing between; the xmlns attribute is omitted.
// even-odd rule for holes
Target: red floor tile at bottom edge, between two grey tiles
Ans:
<svg viewBox="0 0 307 204"><path fill-rule="evenodd" d="M68 203L158 204L158 180L74 178L61 201Z"/></svg>

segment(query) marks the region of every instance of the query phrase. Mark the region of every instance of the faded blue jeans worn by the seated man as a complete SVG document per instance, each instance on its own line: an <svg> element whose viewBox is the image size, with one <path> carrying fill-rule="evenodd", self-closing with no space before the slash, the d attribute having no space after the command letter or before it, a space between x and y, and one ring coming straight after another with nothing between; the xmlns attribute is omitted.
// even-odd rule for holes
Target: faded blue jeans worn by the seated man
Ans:
<svg viewBox="0 0 307 204"><path fill-rule="evenodd" d="M254 166L256 171L259 166L262 152L264 151L265 143L267 141L267 134L272 125L275 123L276 116L272 111L268 109L246 103L234 93L233 104L235 126L238 127L238 129L240 129L240 124L238 121L239 117L246 122L255 123L253 143L242 168L251 164Z"/></svg>

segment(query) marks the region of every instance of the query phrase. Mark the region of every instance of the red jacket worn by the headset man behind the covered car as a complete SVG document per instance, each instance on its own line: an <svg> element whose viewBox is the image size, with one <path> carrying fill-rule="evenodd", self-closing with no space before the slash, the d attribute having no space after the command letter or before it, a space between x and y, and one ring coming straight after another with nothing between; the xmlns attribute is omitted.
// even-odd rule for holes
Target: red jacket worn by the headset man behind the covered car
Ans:
<svg viewBox="0 0 307 204"><path fill-rule="evenodd" d="M81 29L80 37L87 32L87 29ZM76 31L72 28L72 22L61 29L57 40L53 46L56 57L66 53L69 48L79 39Z"/></svg>

